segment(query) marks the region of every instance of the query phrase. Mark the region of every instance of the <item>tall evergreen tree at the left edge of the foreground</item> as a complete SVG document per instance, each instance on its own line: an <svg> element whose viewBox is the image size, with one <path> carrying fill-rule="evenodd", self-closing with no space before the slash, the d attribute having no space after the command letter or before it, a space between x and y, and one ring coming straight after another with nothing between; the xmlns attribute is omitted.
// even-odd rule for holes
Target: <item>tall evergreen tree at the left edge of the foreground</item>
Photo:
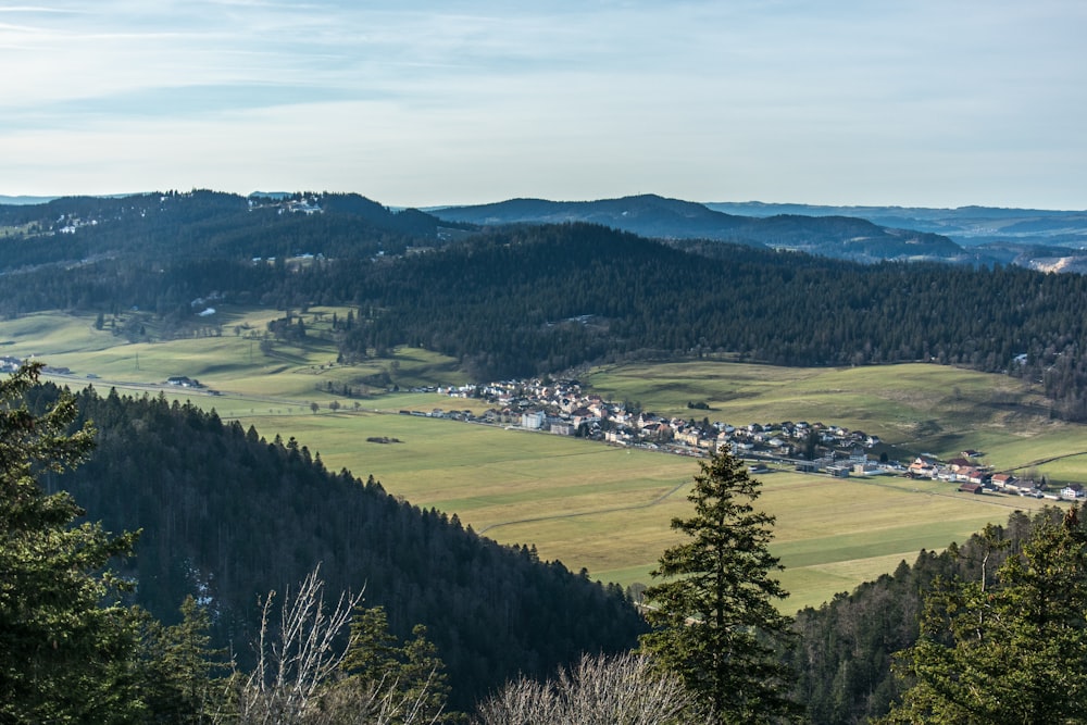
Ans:
<svg viewBox="0 0 1087 725"><path fill-rule="evenodd" d="M126 722L139 709L135 629L102 571L136 535L73 526L84 512L72 497L39 486L93 445L90 425L68 433L72 396L38 415L27 409L40 370L32 363L0 382L0 721Z"/></svg>

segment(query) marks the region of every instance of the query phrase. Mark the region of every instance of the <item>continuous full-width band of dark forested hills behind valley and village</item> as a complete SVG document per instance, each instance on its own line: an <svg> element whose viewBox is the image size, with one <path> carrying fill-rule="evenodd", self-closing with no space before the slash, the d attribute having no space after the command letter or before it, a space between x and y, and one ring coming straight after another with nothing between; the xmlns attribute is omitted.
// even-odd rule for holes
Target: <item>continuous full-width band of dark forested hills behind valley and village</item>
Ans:
<svg viewBox="0 0 1087 725"><path fill-rule="evenodd" d="M351 305L355 323L334 333L345 362L412 345L455 357L477 380L707 353L778 365L926 361L1024 377L1044 386L1053 415L1087 420L1083 275L860 264L579 223L473 235L361 197L250 201L164 195L123 221L92 223L98 212L84 210L76 223L66 214L84 202L58 200L67 226L51 233L11 215L0 314L102 313L141 340L151 317L166 337L214 328L198 316L205 299L285 317ZM407 230L415 225L425 233ZM292 330L270 326L268 343L291 342L282 338Z"/></svg>

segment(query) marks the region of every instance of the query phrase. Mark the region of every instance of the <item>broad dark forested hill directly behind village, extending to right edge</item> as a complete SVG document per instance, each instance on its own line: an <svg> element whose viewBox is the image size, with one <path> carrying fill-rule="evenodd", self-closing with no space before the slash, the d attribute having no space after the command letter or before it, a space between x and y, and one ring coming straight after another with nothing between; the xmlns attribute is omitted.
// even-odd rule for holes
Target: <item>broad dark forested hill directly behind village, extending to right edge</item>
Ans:
<svg viewBox="0 0 1087 725"><path fill-rule="evenodd" d="M341 349L425 347L479 378L725 352L778 365L928 361L1039 380L1054 414L1087 417L1080 275L688 247L700 253L562 225L372 266L354 300L384 309Z"/></svg>

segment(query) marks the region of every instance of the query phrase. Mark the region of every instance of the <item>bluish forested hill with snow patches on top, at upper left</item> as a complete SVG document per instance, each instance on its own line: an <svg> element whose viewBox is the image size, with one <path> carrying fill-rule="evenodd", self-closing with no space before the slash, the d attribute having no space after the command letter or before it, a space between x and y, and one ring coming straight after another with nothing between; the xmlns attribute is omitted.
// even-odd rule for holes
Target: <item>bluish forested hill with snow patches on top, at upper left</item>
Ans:
<svg viewBox="0 0 1087 725"><path fill-rule="evenodd" d="M462 228L417 210L393 212L353 193L64 197L0 205L0 272L108 257L155 262L301 253L362 258L401 253Z"/></svg>

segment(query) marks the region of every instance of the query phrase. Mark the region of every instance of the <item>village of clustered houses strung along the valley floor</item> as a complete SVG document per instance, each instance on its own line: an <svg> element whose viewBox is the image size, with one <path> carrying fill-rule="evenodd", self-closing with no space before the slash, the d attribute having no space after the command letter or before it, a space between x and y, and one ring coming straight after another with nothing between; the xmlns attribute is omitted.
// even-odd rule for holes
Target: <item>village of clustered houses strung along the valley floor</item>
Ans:
<svg viewBox="0 0 1087 725"><path fill-rule="evenodd" d="M483 415L466 410L401 410L403 415L439 417L468 423L501 425L511 429L577 436L614 446L655 450L677 455L709 457L728 448L749 462L753 473L767 464L790 465L796 471L838 478L891 475L927 478L957 486L957 490L982 495L1000 491L1009 495L1051 500L1080 500L1087 489L1069 484L1050 489L1045 477L1017 477L997 472L978 459L979 451L964 450L950 461L922 454L910 463L888 459L878 448L878 436L862 430L821 422L784 421L730 425L711 422L697 413L709 408L688 403L691 417L665 417L633 409L628 403L585 395L576 380L508 380L486 385L415 388L413 392L437 392L450 398L478 398L495 407Z"/></svg>

